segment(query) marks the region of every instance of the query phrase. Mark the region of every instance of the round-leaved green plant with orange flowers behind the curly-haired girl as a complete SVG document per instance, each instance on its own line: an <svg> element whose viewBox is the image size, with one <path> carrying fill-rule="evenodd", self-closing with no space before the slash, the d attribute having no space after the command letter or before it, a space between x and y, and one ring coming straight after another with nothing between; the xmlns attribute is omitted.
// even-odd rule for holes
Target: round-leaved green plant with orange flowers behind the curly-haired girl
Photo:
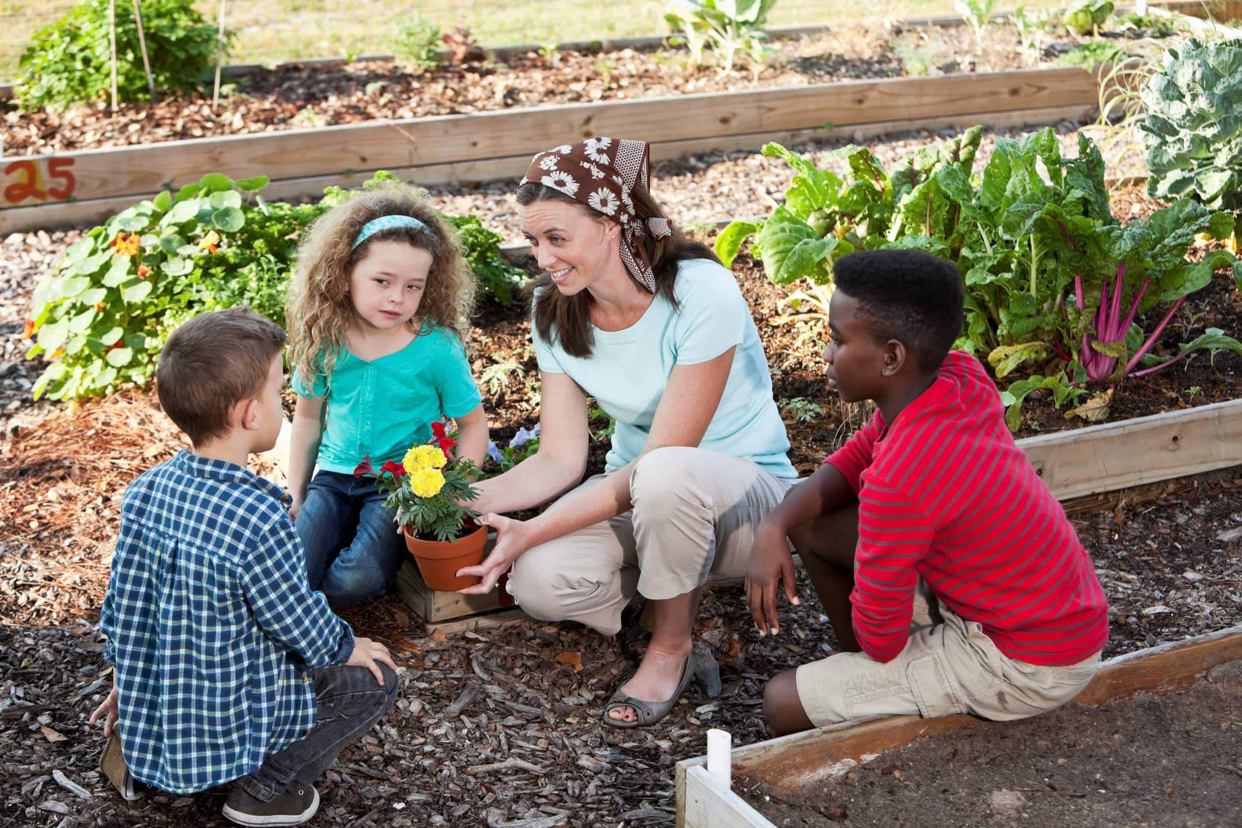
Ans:
<svg viewBox="0 0 1242 828"><path fill-rule="evenodd" d="M376 173L364 188L394 180ZM27 358L51 364L36 398L77 399L124 384L147 385L168 334L185 320L248 305L284 327L284 300L298 239L350 198L328 188L315 204L265 201L263 177L235 182L211 173L178 193L139 201L91 230L39 283L22 334ZM473 216L457 228L467 262L502 305L525 271L501 255L501 236Z"/></svg>

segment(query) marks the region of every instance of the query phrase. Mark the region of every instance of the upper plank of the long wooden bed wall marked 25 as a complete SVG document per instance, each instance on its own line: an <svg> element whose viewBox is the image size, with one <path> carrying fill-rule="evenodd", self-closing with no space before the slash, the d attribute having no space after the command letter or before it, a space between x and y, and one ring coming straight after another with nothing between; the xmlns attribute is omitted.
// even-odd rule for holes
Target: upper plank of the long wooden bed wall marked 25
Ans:
<svg viewBox="0 0 1242 828"><path fill-rule="evenodd" d="M1082 68L1011 70L529 107L20 155L0 159L0 164L11 169L9 175L15 180L30 183L34 174L43 189L19 188L4 210L56 203L48 198L140 196L176 189L207 172L238 179L267 175L278 182L523 155L529 159L556 142L596 134L658 136L661 142L720 139L818 129L825 123L851 127L1090 106L1098 94L1097 73Z"/></svg>

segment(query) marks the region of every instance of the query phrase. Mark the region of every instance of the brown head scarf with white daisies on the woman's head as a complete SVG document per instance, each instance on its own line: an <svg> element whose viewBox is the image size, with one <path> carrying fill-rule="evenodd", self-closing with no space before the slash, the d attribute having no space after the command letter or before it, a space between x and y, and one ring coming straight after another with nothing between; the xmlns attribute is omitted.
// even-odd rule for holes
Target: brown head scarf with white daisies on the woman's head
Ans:
<svg viewBox="0 0 1242 828"><path fill-rule="evenodd" d="M534 182L564 193L620 224L621 261L631 276L655 293L656 274L641 239L648 232L663 239L673 231L668 219L640 219L630 195L635 184L648 188L650 158L646 140L587 138L532 158L522 183Z"/></svg>

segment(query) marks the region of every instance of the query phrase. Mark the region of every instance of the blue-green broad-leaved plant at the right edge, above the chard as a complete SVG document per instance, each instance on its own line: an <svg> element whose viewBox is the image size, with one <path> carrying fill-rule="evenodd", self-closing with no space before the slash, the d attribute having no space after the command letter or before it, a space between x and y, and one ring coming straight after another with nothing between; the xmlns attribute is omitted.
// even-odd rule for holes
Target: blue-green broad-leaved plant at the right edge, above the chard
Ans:
<svg viewBox="0 0 1242 828"><path fill-rule="evenodd" d="M1242 237L1242 40L1187 40L1169 47L1141 92L1148 194L1191 198L1235 215ZM1242 290L1242 283L1238 285Z"/></svg>

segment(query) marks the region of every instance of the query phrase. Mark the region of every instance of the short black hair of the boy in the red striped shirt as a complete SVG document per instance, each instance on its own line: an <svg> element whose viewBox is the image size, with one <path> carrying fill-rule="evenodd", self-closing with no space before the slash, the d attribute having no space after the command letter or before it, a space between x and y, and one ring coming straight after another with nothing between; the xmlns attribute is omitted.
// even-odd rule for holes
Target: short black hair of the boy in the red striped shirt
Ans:
<svg viewBox="0 0 1242 828"><path fill-rule="evenodd" d="M923 373L940 367L961 333L956 265L922 250L863 250L838 259L832 275L877 341L904 343Z"/></svg>

